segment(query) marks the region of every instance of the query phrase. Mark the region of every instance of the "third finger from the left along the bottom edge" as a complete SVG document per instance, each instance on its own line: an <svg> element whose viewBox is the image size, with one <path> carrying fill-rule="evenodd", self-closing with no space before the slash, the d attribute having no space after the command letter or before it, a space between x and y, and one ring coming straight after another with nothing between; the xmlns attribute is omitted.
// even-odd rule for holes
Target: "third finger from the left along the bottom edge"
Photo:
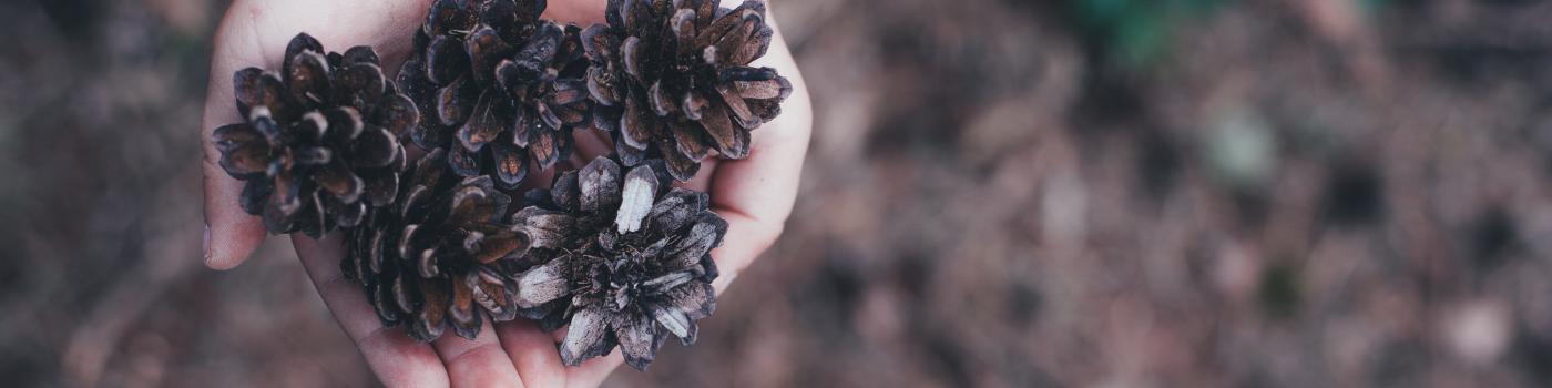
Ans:
<svg viewBox="0 0 1552 388"><path fill-rule="evenodd" d="M517 374L523 376L523 385L531 388L565 386L565 365L560 363L560 351L556 340L539 329L534 321L514 320L495 324L497 337L501 337L501 348L512 357Z"/></svg>

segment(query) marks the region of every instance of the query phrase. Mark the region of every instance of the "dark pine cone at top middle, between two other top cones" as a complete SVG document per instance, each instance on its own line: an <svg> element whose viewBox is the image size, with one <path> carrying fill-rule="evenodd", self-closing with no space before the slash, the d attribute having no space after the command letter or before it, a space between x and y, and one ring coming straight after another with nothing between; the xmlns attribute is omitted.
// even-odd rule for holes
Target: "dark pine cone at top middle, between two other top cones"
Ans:
<svg viewBox="0 0 1552 388"><path fill-rule="evenodd" d="M588 126L580 29L543 11L543 0L438 0L416 34L399 71L427 116L413 140L447 149L459 175L514 188L529 161L548 169L571 151L568 129Z"/></svg>

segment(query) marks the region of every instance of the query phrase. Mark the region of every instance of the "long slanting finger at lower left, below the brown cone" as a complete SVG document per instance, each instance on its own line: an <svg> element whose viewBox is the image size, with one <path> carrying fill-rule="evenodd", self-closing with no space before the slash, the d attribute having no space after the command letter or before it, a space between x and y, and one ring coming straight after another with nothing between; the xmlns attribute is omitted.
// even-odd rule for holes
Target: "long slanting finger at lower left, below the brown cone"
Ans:
<svg viewBox="0 0 1552 388"><path fill-rule="evenodd" d="M431 346L417 343L405 335L402 329L383 327L377 320L377 312L366 301L366 293L360 286L346 279L340 272L340 258L345 248L338 234L331 234L323 241L306 236L293 236L292 245L296 256L307 268L307 276L318 287L318 295L329 306L340 329L355 341L366 366L383 380L386 386L447 386L447 371L442 360L436 357Z"/></svg>

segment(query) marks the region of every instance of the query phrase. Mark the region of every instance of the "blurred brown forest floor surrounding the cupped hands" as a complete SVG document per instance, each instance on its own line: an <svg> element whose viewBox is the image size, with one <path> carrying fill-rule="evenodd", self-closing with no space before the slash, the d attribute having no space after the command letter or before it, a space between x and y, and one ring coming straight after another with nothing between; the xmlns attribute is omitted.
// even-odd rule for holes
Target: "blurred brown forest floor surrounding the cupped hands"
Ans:
<svg viewBox="0 0 1552 388"><path fill-rule="evenodd" d="M223 2L0 3L0 380L376 385L199 259ZM778 0L785 236L615 386L1552 385L1552 5Z"/></svg>

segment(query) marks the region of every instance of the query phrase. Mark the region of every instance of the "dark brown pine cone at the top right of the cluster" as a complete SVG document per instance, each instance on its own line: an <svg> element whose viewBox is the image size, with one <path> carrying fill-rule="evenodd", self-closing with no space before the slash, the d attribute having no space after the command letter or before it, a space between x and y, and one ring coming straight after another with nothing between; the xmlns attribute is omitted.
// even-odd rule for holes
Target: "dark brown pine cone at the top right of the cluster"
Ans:
<svg viewBox="0 0 1552 388"><path fill-rule="evenodd" d="M689 180L711 151L748 157L750 130L792 93L776 70L748 67L770 47L765 2L610 0L605 17L582 31L587 87L594 126L613 133L627 166L661 157Z"/></svg>

